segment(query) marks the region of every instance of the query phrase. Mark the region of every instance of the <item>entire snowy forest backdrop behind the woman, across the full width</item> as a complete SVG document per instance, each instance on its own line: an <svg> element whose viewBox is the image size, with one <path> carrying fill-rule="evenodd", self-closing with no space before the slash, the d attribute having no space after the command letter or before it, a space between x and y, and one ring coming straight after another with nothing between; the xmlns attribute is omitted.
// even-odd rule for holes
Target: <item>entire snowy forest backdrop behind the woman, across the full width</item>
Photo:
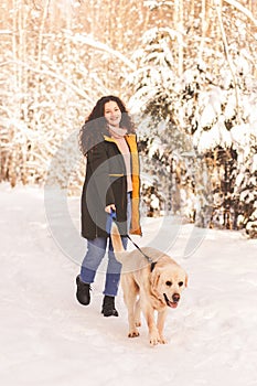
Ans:
<svg viewBox="0 0 257 386"><path fill-rule="evenodd" d="M103 95L136 122L142 211L257 237L257 1L2 0L0 182L81 193Z"/></svg>

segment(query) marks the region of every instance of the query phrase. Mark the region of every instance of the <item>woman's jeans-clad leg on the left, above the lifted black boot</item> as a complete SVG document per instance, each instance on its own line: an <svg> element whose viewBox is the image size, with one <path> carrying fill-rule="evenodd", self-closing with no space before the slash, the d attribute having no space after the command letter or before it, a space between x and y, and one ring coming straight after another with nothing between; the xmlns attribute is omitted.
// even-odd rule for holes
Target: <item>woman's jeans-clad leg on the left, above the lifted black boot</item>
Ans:
<svg viewBox="0 0 257 386"><path fill-rule="evenodd" d="M103 260L107 246L107 238L96 237L87 240L87 253L81 268L81 280L92 283L95 280L97 268Z"/></svg>

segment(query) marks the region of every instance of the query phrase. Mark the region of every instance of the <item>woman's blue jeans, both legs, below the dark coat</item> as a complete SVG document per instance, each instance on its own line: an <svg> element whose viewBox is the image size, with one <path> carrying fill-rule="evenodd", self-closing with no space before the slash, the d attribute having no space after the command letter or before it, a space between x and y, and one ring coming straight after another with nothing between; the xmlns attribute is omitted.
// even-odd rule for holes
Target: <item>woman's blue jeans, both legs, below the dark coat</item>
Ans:
<svg viewBox="0 0 257 386"><path fill-rule="evenodd" d="M127 206L128 224L131 218L131 199L128 194ZM127 249L128 238L121 237L124 248ZM92 283L95 280L96 271L105 257L108 244L108 265L106 271L104 294L115 297L118 292L118 286L120 280L121 264L116 260L114 254L114 247L110 237L96 237L92 240L87 240L87 253L82 262L81 280L83 282Z"/></svg>

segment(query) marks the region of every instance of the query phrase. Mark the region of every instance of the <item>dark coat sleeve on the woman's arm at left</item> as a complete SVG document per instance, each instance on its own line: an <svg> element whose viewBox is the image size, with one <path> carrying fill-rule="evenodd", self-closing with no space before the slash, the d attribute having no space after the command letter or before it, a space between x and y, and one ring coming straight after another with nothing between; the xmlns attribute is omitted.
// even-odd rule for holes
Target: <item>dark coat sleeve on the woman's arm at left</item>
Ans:
<svg viewBox="0 0 257 386"><path fill-rule="evenodd" d="M109 160L103 142L88 151L87 162L92 170L92 176L88 181L90 194L98 194L104 207L115 204L109 179Z"/></svg>

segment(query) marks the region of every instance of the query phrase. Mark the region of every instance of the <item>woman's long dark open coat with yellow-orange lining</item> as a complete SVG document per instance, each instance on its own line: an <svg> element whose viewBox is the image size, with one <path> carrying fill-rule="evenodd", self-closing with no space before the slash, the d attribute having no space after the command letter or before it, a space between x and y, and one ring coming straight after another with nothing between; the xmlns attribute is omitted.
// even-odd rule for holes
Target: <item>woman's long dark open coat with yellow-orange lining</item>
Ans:
<svg viewBox="0 0 257 386"><path fill-rule="evenodd" d="M139 160L136 135L127 135L131 153L132 213L130 233L141 234L139 225ZM88 239L108 237L107 205L116 205L121 235L127 235L127 176L124 157L114 138L103 135L87 152L86 178L82 193L82 236Z"/></svg>

